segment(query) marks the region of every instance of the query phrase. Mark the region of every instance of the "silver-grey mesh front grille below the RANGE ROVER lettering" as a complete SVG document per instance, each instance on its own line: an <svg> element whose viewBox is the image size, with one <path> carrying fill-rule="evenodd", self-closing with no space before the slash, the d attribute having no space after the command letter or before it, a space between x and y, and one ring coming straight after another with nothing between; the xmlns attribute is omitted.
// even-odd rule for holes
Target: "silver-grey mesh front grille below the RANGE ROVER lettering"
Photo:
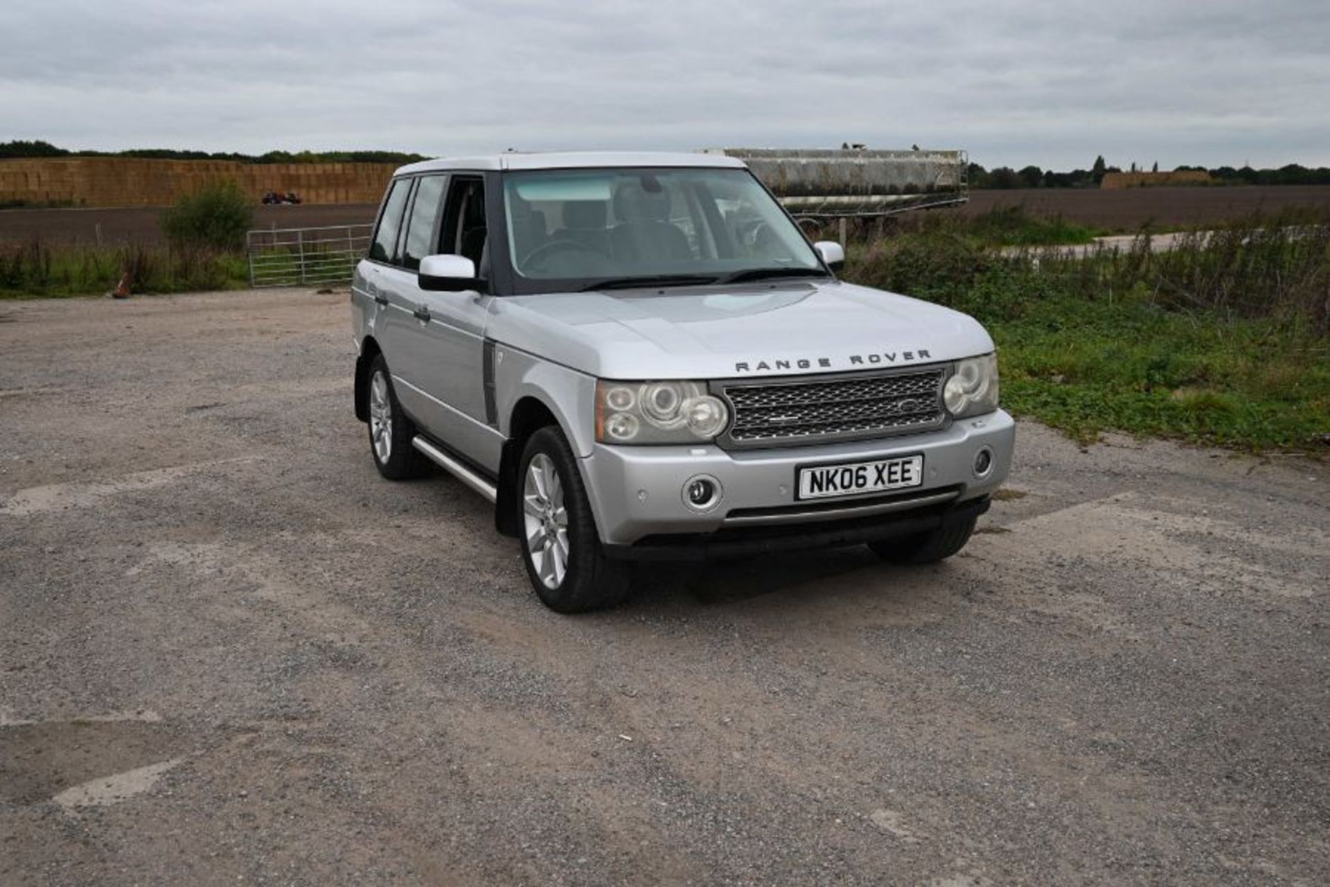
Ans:
<svg viewBox="0 0 1330 887"><path fill-rule="evenodd" d="M798 380L725 382L734 415L722 444L858 440L940 428L943 367Z"/></svg>

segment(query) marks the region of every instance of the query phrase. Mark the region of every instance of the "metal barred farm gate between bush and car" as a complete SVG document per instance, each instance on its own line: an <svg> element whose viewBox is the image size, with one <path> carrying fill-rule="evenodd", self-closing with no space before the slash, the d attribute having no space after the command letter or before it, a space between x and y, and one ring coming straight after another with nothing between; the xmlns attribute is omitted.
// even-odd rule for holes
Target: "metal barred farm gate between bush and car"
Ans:
<svg viewBox="0 0 1330 887"><path fill-rule="evenodd" d="M245 235L250 286L350 283L374 225L255 229Z"/></svg>

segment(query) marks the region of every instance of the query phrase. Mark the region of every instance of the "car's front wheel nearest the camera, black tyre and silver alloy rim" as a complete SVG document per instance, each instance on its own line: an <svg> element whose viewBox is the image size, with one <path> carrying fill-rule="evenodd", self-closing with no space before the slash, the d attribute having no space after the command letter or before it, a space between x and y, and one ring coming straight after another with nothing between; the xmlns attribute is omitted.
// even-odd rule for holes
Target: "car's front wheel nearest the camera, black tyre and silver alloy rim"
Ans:
<svg viewBox="0 0 1330 887"><path fill-rule="evenodd" d="M628 597L629 567L605 557L577 460L557 427L547 426L527 442L513 495L521 557L545 606L584 613Z"/></svg>

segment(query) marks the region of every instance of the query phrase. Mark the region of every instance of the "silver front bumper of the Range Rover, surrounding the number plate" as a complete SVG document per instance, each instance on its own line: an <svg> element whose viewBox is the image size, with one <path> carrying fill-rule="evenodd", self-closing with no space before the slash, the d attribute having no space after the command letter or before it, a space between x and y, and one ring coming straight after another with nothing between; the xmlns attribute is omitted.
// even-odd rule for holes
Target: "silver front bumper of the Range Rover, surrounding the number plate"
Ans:
<svg viewBox="0 0 1330 887"><path fill-rule="evenodd" d="M944 513L962 504L987 500L1007 477L1016 423L1004 411L959 419L950 427L920 435L854 443L771 449L725 451L720 447L610 447L596 444L581 459L583 477L601 541L621 549L654 537L678 539L739 528L779 528L797 536L845 521L846 525L904 520ZM975 455L987 447L992 467L975 475ZM801 465L834 464L923 455L924 481L898 493L878 493L799 501L795 471ZM722 496L706 512L684 503L684 487L705 475L718 481ZM705 543L705 539L698 540Z"/></svg>

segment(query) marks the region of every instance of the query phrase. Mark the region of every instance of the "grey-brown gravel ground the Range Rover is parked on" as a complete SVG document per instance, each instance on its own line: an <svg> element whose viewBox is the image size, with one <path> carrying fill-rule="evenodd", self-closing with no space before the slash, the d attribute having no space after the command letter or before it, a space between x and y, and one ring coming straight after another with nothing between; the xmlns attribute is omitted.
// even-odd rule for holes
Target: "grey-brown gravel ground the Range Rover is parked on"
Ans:
<svg viewBox="0 0 1330 887"><path fill-rule="evenodd" d="M560 617L344 293L0 305L0 883L1321 884L1330 476L1020 430L971 545Z"/></svg>

